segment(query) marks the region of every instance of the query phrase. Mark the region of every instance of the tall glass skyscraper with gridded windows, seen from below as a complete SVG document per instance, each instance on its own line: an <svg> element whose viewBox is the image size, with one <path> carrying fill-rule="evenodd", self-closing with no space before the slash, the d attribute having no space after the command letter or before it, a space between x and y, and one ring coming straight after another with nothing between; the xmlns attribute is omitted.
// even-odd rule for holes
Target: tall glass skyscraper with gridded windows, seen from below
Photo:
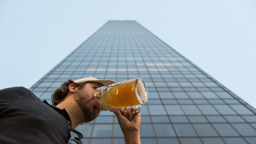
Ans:
<svg viewBox="0 0 256 144"><path fill-rule="evenodd" d="M30 90L50 102L67 79L94 76L117 82L141 77L141 143L256 143L256 110L136 21L108 21ZM120 144L112 112L80 125L83 143Z"/></svg>

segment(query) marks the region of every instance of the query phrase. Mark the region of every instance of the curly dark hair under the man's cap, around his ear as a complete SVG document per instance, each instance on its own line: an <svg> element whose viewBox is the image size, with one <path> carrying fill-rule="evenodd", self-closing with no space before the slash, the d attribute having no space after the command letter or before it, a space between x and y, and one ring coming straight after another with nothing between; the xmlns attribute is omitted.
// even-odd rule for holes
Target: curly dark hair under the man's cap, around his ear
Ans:
<svg viewBox="0 0 256 144"><path fill-rule="evenodd" d="M69 85L70 84L75 84L78 89L83 88L83 86L86 84L87 82L83 82L83 83L75 83L72 80L68 80L67 82L63 83L60 88L57 88L54 93L51 95L52 98L52 104L53 105L57 105L59 104L68 94L69 92Z"/></svg>

